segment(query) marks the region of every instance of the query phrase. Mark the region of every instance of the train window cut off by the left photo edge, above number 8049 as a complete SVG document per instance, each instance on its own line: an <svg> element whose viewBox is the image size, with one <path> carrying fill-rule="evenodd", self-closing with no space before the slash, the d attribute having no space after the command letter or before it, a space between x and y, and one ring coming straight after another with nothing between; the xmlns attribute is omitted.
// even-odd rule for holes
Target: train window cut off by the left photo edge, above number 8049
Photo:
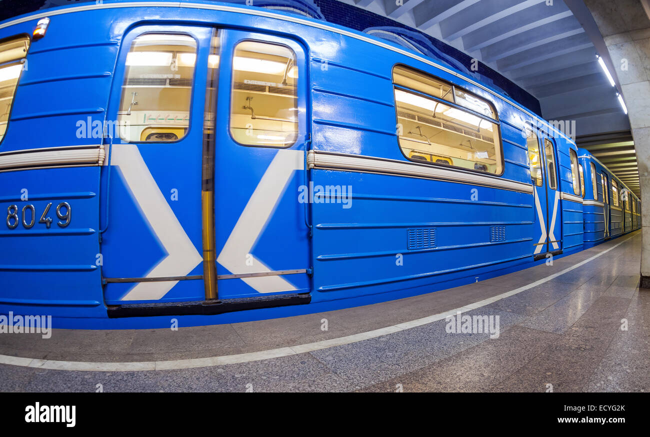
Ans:
<svg viewBox="0 0 650 437"><path fill-rule="evenodd" d="M0 42L0 141L5 137L29 42L27 35Z"/></svg>

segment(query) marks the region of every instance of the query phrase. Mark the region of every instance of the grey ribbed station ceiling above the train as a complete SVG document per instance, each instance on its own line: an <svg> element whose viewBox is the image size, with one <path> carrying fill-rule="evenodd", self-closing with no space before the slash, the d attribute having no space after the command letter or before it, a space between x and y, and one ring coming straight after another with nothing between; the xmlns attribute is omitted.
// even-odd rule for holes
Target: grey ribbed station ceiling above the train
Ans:
<svg viewBox="0 0 650 437"><path fill-rule="evenodd" d="M456 47L539 99L547 120L575 120L590 150L640 196L627 115L598 64L603 37L583 0L339 0ZM614 74L614 80L617 81Z"/></svg>

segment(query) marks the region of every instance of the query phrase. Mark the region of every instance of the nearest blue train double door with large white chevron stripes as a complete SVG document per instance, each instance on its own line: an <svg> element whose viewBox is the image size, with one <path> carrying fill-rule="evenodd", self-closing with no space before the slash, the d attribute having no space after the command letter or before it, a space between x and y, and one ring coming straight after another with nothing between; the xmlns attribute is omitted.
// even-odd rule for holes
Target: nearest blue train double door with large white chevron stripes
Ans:
<svg viewBox="0 0 650 437"><path fill-rule="evenodd" d="M211 27L123 36L101 181L109 310L309 293L305 53Z"/></svg>

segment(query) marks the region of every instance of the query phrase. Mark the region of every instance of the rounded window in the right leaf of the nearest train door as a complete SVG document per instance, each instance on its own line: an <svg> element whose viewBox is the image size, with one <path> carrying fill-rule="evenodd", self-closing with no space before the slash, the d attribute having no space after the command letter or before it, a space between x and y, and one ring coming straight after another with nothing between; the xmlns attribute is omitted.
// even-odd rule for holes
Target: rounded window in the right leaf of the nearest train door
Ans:
<svg viewBox="0 0 650 437"><path fill-rule="evenodd" d="M230 133L246 146L288 147L298 137L298 65L287 46L235 47Z"/></svg>

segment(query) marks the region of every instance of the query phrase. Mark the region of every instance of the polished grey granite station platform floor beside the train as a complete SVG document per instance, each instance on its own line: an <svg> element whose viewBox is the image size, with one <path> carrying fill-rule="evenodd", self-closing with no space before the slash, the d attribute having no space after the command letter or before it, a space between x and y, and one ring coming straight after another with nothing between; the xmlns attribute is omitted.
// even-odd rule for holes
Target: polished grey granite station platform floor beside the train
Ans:
<svg viewBox="0 0 650 437"><path fill-rule="evenodd" d="M638 231L553 265L283 319L3 334L0 391L650 391L641 247ZM498 315L499 337L448 333L457 311Z"/></svg>

